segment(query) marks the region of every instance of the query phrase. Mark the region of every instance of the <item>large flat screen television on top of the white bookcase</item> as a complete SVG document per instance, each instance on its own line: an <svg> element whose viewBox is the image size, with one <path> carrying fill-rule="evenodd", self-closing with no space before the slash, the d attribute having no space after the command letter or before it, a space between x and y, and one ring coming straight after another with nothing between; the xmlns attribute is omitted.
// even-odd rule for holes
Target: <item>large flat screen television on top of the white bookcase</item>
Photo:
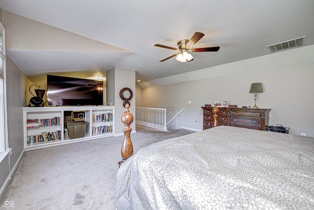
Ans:
<svg viewBox="0 0 314 210"><path fill-rule="evenodd" d="M104 105L103 81L47 75L48 105Z"/></svg>

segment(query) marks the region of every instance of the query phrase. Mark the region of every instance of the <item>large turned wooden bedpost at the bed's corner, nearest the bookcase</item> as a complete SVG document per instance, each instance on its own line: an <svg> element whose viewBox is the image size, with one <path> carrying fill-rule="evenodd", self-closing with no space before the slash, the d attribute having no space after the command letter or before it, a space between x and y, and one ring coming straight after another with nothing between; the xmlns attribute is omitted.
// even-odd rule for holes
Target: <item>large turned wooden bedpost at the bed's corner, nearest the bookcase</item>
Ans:
<svg viewBox="0 0 314 210"><path fill-rule="evenodd" d="M133 122L133 115L129 110L130 105L126 104L125 107L126 110L121 116L121 122L124 124L124 128L122 129L122 131L124 132L124 139L121 147L122 160L118 163L119 167L124 161L126 161L129 157L133 155L133 146L130 137L132 130L130 128L130 124Z"/></svg>

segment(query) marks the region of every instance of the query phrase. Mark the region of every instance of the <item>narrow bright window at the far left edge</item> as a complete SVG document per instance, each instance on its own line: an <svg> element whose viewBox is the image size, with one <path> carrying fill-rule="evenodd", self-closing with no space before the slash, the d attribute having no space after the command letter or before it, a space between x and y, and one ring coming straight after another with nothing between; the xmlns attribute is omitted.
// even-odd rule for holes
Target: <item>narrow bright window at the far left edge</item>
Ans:
<svg viewBox="0 0 314 210"><path fill-rule="evenodd" d="M0 23L0 153L8 149L5 93L5 30Z"/></svg>

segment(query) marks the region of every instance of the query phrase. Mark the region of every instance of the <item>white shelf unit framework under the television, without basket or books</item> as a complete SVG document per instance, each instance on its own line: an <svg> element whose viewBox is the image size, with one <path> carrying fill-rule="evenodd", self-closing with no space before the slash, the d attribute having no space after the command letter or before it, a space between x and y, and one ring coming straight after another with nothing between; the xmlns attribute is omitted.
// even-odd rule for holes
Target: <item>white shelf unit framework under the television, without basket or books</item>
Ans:
<svg viewBox="0 0 314 210"><path fill-rule="evenodd" d="M64 112L65 111L84 111L84 119L86 121L86 132L84 137L70 139L64 135ZM111 115L110 120L95 122L93 120L95 115ZM24 119L24 148L33 150L43 147L51 147L60 144L68 144L78 141L86 141L96 138L103 138L114 135L114 106L45 106L45 107L23 107ZM36 128L27 128L27 119L58 119L60 122L55 126L45 126ZM51 120L53 122L53 120ZM94 122L93 122L94 121ZM93 127L106 126L111 128L110 132L93 133ZM43 132L52 133L60 132L58 140L43 141L38 140L38 136ZM57 133L57 132L56 132ZM31 137L29 137L31 136ZM33 137L34 136L34 137ZM36 140L37 136L37 140Z"/></svg>

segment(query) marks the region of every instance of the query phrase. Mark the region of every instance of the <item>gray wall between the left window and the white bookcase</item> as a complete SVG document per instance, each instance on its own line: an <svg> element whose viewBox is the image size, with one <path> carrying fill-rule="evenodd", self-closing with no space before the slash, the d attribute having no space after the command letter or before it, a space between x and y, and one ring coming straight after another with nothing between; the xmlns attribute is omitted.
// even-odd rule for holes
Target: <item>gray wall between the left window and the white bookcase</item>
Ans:
<svg viewBox="0 0 314 210"><path fill-rule="evenodd" d="M12 156L10 158L10 164L4 160L0 164L0 187L3 184L6 186L9 184L5 181L8 179L10 173L14 174L14 170L17 169L19 161L24 151L23 141L23 110L22 107L25 103L25 84L26 77L19 70L19 68L12 62L12 60L6 58L6 98L7 98L7 125L8 125L8 140L9 147L12 148ZM12 171L13 170L13 171ZM3 191L4 192L4 191ZM2 192L2 193L3 193ZM0 195L2 197L3 194Z"/></svg>

